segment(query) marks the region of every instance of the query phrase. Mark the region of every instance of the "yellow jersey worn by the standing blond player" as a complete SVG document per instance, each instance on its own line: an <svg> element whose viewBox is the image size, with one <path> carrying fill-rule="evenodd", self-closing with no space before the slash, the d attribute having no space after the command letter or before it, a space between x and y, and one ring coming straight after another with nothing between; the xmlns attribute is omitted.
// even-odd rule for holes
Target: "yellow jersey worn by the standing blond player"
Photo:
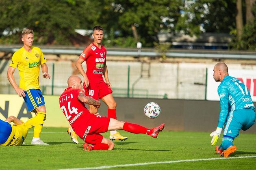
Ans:
<svg viewBox="0 0 256 170"><path fill-rule="evenodd" d="M18 68L20 74L20 88L40 89L39 71L40 65L46 62L43 52L38 47L31 47L31 52L28 52L21 47L18 49L11 59L10 66Z"/></svg>

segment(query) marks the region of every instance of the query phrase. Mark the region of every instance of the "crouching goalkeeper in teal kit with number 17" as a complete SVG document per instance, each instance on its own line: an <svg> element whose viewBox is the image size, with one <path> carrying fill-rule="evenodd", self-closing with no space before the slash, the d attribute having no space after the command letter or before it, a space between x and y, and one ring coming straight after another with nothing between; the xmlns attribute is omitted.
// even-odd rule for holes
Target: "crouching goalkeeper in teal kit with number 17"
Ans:
<svg viewBox="0 0 256 170"><path fill-rule="evenodd" d="M221 82L218 87L221 111L217 129L210 134L213 137L211 144L214 146L217 143L225 125L222 143L216 146L215 151L220 156L228 157L236 151L233 140L239 136L239 131L245 131L255 123L255 108L248 88L237 78L228 75L225 63L217 63L213 71L214 80Z"/></svg>

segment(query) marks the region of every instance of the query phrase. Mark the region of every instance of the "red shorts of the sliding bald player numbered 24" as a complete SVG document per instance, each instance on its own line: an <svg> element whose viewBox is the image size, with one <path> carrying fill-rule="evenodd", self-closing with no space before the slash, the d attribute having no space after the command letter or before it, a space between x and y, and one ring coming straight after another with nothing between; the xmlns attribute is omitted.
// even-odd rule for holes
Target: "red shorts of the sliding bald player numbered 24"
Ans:
<svg viewBox="0 0 256 170"><path fill-rule="evenodd" d="M101 143L103 136L100 133L108 131L110 118L93 115L89 121L83 120L83 117L78 119L79 123L72 125L76 134L88 144Z"/></svg>

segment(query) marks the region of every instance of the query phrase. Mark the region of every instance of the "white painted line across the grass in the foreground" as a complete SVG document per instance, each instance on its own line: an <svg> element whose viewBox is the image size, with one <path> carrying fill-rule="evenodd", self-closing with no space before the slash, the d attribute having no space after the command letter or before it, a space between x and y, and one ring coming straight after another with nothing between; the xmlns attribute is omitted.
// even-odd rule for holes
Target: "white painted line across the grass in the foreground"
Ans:
<svg viewBox="0 0 256 170"><path fill-rule="evenodd" d="M211 161L211 160L219 160L219 159L241 159L241 158L253 158L256 156L241 156L241 157L220 157L220 158L207 158L207 159L186 159L186 160L177 160L177 161L163 161L163 162L145 162L138 164L123 164L123 165L112 165L112 166L98 166L98 167L87 167L87 168L70 168L70 169L59 169L59 170L97 170L97 169L109 169L109 168L117 168L117 167L127 167L127 166L141 166L141 165L152 165L152 164L172 164L172 163L180 163L180 162L195 162L195 161Z"/></svg>

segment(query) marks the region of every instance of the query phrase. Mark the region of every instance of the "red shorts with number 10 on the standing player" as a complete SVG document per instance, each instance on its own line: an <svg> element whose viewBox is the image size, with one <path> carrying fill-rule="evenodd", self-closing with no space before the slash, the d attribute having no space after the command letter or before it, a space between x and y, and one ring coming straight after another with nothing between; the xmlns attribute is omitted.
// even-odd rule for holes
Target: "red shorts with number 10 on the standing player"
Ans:
<svg viewBox="0 0 256 170"><path fill-rule="evenodd" d="M113 93L111 88L104 81L97 83L90 81L89 86L87 88L84 86L84 89L85 95L90 96L95 100L99 100L99 98L101 99L102 97Z"/></svg>

